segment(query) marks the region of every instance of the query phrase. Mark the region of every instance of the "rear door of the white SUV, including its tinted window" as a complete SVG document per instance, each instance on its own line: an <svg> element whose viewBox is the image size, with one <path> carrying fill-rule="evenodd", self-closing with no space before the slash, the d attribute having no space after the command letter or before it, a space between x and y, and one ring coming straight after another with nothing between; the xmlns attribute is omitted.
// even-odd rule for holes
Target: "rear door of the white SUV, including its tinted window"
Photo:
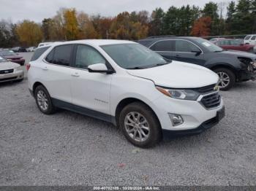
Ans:
<svg viewBox="0 0 256 191"><path fill-rule="evenodd" d="M58 101L71 103L71 70L72 52L74 45L66 44L55 47L45 58L44 85L50 96ZM55 100L56 101L56 100Z"/></svg>

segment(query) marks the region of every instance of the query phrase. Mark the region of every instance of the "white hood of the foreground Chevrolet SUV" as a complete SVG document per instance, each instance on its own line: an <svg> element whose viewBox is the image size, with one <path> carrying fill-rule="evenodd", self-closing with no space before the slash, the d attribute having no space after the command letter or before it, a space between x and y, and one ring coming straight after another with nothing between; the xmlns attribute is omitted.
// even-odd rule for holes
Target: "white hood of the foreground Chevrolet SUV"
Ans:
<svg viewBox="0 0 256 191"><path fill-rule="evenodd" d="M127 70L135 77L152 80L155 85L173 88L195 88L217 84L218 75L192 63L173 61L150 69Z"/></svg>

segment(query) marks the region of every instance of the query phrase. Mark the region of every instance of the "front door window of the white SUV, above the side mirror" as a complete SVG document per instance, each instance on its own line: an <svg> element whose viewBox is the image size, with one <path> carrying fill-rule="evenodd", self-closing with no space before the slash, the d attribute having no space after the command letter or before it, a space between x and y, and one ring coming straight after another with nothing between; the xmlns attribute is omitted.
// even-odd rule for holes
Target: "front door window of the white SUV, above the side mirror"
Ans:
<svg viewBox="0 0 256 191"><path fill-rule="evenodd" d="M87 69L94 63L106 63L105 58L93 47L78 45L75 56L75 68Z"/></svg>

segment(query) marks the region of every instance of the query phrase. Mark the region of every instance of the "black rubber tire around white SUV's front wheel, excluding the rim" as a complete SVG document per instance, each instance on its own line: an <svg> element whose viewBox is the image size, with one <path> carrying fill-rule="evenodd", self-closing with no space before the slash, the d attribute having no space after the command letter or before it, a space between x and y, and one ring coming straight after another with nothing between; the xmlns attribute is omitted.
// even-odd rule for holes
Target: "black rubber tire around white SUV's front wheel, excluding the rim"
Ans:
<svg viewBox="0 0 256 191"><path fill-rule="evenodd" d="M139 112L140 114L143 114L144 117L146 117L146 120L148 121L150 128L150 133L146 141L135 141L127 133L127 130L124 126L124 119L127 116L127 114L129 114L129 112ZM119 126L122 130L122 133L124 133L124 136L128 139L128 141L130 141L137 147L153 147L155 144L157 144L161 137L161 128L157 116L148 106L146 106L146 104L142 104L140 102L134 102L124 107L119 117Z"/></svg>

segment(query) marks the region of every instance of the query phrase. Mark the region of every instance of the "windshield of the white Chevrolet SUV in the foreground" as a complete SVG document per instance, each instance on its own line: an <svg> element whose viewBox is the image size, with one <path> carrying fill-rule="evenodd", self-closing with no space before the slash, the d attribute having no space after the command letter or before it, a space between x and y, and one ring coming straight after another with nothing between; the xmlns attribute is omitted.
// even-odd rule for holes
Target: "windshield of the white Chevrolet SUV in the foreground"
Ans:
<svg viewBox="0 0 256 191"><path fill-rule="evenodd" d="M140 44L110 44L101 47L123 69L147 69L167 64L162 56Z"/></svg>

